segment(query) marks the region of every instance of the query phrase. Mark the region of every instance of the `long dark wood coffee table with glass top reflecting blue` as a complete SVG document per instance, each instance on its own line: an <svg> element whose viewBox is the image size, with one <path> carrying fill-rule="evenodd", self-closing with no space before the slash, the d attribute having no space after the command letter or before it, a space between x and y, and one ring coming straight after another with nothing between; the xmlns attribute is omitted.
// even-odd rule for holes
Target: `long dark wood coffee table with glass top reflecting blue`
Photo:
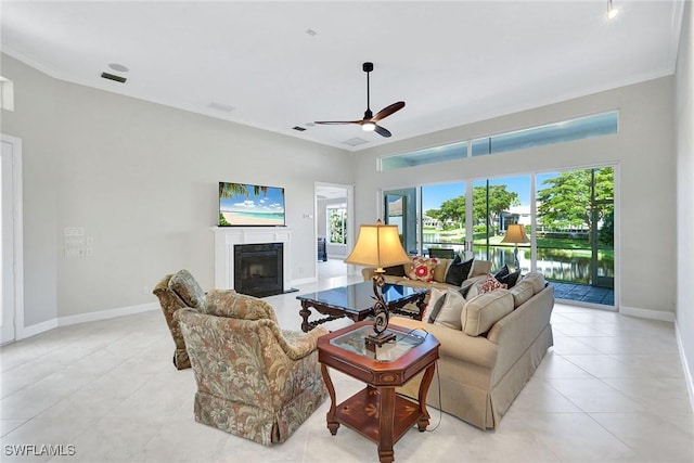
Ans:
<svg viewBox="0 0 694 463"><path fill-rule="evenodd" d="M390 313L399 313L422 320L422 314L426 308L424 299L429 292L428 288L386 283L381 288L381 292ZM301 330L304 332L309 332L322 323L343 317L359 322L373 313L374 298L373 283L371 281L303 294L296 296L296 298L301 301L299 314L303 319ZM417 310L403 309L408 304L414 304ZM309 321L311 307L327 317Z"/></svg>

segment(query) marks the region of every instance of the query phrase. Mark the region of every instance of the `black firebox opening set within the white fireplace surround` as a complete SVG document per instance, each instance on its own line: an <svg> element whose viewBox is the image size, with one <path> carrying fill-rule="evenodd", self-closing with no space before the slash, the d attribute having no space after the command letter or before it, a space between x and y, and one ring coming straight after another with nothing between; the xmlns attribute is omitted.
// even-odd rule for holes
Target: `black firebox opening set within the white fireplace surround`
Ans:
<svg viewBox="0 0 694 463"><path fill-rule="evenodd" d="M282 243L234 245L234 290L265 297L284 292Z"/></svg>

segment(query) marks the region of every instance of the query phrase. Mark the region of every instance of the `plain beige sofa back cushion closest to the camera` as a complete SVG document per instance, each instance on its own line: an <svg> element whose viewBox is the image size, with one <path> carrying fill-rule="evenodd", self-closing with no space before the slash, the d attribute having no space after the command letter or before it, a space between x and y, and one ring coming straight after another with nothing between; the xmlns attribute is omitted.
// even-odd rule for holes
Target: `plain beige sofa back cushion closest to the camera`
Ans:
<svg viewBox="0 0 694 463"><path fill-rule="evenodd" d="M468 336L479 336L512 311L513 296L509 290L492 291L480 294L465 304L461 324Z"/></svg>

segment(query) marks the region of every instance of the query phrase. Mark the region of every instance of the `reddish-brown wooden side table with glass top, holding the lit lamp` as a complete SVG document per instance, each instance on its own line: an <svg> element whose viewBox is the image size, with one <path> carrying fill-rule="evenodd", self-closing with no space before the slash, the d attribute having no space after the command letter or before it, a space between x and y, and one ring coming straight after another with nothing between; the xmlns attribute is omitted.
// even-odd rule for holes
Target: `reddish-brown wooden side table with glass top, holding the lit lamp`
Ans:
<svg viewBox="0 0 694 463"><path fill-rule="evenodd" d="M318 360L330 394L327 428L334 436L340 424L378 445L378 460L393 462L393 446L414 425L424 432L429 424L426 394L434 377L439 343L427 333L389 324L387 331L396 340L365 348L363 338L373 332L373 323L360 322L326 334L318 339ZM421 335L420 335L421 334ZM362 381L367 387L337 404L335 387L327 369L338 370ZM395 394L420 372L425 371L419 403Z"/></svg>

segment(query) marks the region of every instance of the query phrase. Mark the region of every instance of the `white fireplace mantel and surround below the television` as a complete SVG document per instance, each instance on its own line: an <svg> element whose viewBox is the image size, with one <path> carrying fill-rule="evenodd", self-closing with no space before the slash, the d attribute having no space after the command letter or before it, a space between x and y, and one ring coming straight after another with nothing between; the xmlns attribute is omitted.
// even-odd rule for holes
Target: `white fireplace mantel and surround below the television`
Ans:
<svg viewBox="0 0 694 463"><path fill-rule="evenodd" d="M288 227L213 227L215 233L215 287L234 288L234 246L236 244L282 243L284 291L290 291L292 231Z"/></svg>

